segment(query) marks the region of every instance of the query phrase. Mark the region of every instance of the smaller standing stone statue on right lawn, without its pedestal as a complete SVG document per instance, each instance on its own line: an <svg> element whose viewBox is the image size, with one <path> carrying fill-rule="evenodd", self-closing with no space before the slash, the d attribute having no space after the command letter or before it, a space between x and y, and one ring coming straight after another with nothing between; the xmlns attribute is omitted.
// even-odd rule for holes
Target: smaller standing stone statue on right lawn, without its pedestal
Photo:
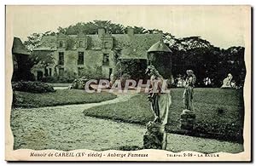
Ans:
<svg viewBox="0 0 256 166"><path fill-rule="evenodd" d="M185 109L193 111L193 94L196 77L192 70L187 70L187 75L185 80L184 92L183 92L183 103L185 105Z"/></svg>

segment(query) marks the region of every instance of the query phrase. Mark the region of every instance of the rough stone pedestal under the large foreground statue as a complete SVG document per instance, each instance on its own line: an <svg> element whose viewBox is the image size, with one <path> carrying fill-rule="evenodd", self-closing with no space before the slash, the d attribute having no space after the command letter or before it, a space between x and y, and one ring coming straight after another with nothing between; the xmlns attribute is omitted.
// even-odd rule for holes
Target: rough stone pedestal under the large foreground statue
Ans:
<svg viewBox="0 0 256 166"><path fill-rule="evenodd" d="M144 149L166 149L167 135L165 126L160 123L149 122L147 131L143 136Z"/></svg>

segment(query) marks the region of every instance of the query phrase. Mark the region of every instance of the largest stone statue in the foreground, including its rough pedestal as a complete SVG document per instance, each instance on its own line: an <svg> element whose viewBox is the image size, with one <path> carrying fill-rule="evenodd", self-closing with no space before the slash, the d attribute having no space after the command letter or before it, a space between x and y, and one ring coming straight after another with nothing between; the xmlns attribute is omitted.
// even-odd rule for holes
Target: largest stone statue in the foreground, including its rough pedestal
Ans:
<svg viewBox="0 0 256 166"><path fill-rule="evenodd" d="M148 66L146 73L150 76L151 88L148 93L148 100L154 114L154 121L147 124L147 132L143 137L144 148L166 149L165 126L168 120L169 108L172 104L171 94L162 91L167 87L163 87L164 78L160 76L154 66Z"/></svg>

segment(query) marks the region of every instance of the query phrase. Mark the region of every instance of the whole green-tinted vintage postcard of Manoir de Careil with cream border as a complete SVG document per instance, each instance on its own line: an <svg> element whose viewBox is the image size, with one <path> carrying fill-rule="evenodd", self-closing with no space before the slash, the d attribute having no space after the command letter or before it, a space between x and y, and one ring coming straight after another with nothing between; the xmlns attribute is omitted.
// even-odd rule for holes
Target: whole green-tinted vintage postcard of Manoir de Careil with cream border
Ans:
<svg viewBox="0 0 256 166"><path fill-rule="evenodd" d="M250 6L5 10L7 161L251 161Z"/></svg>

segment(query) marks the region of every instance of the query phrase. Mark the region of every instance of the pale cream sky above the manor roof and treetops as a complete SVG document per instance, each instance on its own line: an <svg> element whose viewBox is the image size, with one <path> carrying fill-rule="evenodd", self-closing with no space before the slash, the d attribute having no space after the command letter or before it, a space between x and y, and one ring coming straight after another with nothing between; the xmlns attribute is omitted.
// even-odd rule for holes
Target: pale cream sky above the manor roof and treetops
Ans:
<svg viewBox="0 0 256 166"><path fill-rule="evenodd" d="M175 37L200 36L222 49L244 46L250 7L245 6L7 6L10 36L24 42L33 32L56 31L77 22L111 20Z"/></svg>

